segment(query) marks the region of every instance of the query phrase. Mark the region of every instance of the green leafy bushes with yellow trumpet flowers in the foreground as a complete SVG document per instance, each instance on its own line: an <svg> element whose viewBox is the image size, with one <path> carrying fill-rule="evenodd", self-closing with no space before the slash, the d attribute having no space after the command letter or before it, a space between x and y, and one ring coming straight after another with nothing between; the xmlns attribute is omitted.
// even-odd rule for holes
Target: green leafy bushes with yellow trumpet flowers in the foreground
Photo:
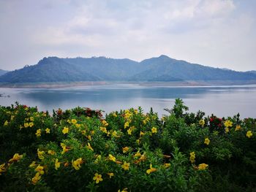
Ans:
<svg viewBox="0 0 256 192"><path fill-rule="evenodd" d="M255 191L256 119L0 107L0 191Z"/></svg>

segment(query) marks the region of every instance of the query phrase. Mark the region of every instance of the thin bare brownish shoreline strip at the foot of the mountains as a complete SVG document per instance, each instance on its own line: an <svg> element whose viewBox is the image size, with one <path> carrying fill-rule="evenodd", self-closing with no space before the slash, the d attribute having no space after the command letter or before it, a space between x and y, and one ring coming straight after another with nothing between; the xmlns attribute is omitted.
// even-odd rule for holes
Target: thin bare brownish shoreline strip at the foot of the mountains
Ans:
<svg viewBox="0 0 256 192"><path fill-rule="evenodd" d="M137 81L86 81L86 82L37 82L37 83L0 83L0 88L69 88L94 85L144 85L144 86L203 86L203 85L252 85L256 81L172 81L172 82L137 82Z"/></svg>

